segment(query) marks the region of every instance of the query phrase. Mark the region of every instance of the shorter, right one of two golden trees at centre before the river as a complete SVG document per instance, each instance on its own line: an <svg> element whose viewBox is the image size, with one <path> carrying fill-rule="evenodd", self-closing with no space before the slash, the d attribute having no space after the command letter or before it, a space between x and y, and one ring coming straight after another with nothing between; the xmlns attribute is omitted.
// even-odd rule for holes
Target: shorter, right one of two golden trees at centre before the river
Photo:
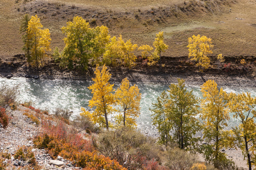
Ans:
<svg viewBox="0 0 256 170"><path fill-rule="evenodd" d="M134 128L137 126L136 118L140 114L141 94L139 88L134 84L130 87L127 78L122 80L120 87L115 91L116 104L119 114L115 116L117 126Z"/></svg>

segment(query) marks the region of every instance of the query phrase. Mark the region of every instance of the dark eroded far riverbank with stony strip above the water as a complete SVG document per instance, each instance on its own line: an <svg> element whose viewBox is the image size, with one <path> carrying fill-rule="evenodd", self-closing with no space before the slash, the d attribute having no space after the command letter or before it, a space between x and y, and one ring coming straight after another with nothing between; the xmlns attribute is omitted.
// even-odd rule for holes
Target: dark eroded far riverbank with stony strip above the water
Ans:
<svg viewBox="0 0 256 170"><path fill-rule="evenodd" d="M246 63L241 65L240 60L246 58ZM256 57L233 56L225 57L225 62L217 65L211 58L211 66L204 73L198 71L195 63L188 57L163 57L165 65L147 66L143 59L137 59L132 69L126 67L109 67L112 74L110 81L121 82L128 78L130 82L176 83L177 78L182 78L185 83L201 86L208 79L213 79L219 86L227 87L256 87ZM49 59L39 70L29 68L24 55L16 55L7 61L0 62L1 77L25 77L35 79L68 79L92 80L95 67L88 71L68 70L59 67L59 63Z"/></svg>

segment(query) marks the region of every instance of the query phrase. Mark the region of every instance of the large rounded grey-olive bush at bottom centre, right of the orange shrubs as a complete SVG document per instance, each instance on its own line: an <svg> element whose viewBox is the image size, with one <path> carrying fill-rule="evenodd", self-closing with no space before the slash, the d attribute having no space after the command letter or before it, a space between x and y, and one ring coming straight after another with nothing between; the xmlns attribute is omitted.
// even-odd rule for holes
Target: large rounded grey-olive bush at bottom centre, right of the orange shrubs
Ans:
<svg viewBox="0 0 256 170"><path fill-rule="evenodd" d="M141 169L148 160L159 160L154 141L132 129L106 131L93 144L102 155L117 160L127 169Z"/></svg>

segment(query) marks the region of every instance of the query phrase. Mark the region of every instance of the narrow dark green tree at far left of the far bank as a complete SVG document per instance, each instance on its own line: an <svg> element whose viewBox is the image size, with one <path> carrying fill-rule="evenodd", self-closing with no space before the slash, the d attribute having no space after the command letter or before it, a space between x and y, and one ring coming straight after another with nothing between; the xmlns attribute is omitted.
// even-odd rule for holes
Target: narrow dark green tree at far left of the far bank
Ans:
<svg viewBox="0 0 256 170"><path fill-rule="evenodd" d="M28 39L28 22L30 21L31 16L29 14L25 14L22 16L22 19L20 21L20 27L19 31L22 33L22 40L24 42L24 45L22 47L22 50L25 52L25 57L27 58L28 66L30 66L31 63L31 40Z"/></svg>

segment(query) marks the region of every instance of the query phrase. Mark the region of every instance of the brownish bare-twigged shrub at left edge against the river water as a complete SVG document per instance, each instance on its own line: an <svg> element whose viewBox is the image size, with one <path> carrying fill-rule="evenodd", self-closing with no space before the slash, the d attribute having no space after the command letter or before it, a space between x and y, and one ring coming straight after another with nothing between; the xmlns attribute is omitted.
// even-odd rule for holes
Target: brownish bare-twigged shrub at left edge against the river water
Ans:
<svg viewBox="0 0 256 170"><path fill-rule="evenodd" d="M11 103L15 103L16 97L19 95L19 86L7 86L3 84L0 87L0 107L7 107Z"/></svg>

